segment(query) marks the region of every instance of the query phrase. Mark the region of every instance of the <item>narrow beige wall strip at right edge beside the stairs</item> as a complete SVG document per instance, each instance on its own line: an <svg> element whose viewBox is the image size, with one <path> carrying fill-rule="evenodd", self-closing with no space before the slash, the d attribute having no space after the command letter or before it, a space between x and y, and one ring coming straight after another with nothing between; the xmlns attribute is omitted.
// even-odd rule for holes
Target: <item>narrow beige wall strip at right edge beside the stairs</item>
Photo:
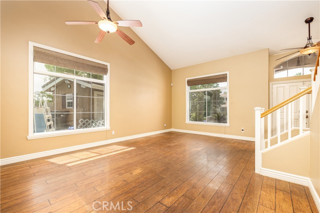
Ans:
<svg viewBox="0 0 320 213"><path fill-rule="evenodd" d="M320 196L320 90L310 121L310 179Z"/></svg>

